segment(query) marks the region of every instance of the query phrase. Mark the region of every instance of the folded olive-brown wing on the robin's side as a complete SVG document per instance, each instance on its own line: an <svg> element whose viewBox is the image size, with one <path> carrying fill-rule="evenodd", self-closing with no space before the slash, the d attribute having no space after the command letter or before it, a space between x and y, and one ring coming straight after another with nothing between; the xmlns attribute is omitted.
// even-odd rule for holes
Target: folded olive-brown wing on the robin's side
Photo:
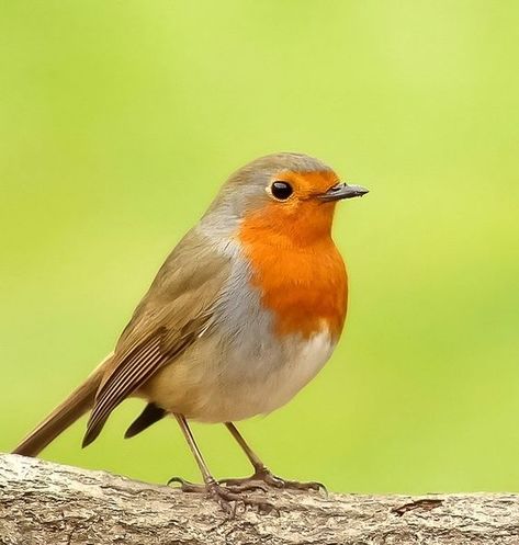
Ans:
<svg viewBox="0 0 519 545"><path fill-rule="evenodd" d="M115 407L211 325L228 272L228 258L193 231L173 250L121 336L95 395L83 446L99 435Z"/></svg>

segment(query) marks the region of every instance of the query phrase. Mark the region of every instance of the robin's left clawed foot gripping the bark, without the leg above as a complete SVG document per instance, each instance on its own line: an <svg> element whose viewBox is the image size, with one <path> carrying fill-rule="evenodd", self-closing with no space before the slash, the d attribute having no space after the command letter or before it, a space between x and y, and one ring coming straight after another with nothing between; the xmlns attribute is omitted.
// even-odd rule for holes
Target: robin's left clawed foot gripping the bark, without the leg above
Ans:
<svg viewBox="0 0 519 545"><path fill-rule="evenodd" d="M183 492L194 492L204 493L207 498L212 498L217 501L222 509L234 516L239 507L246 509L247 507L256 507L260 513L277 512L277 509L272 503L264 500L259 500L257 498L251 498L244 493L247 491L261 490L263 492L268 491L267 487L259 481L245 481L229 484L228 486L222 486L221 482L216 480L210 481L206 485L201 485L196 482L190 482L189 480L182 479L181 477L172 477L168 480L168 485L172 482L178 482L180 485L180 490Z"/></svg>

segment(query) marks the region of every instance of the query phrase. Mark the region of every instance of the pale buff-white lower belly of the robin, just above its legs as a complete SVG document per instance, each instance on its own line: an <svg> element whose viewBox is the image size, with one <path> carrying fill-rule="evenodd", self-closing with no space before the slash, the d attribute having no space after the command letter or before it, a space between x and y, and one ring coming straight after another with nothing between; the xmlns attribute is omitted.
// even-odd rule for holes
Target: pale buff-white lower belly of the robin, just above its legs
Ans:
<svg viewBox="0 0 519 545"><path fill-rule="evenodd" d="M289 339L282 349L272 349L271 343L270 339L253 353L241 345L223 354L210 342L160 371L160 381L151 379L143 394L171 412L203 422L271 412L314 378L335 342L326 329L309 339Z"/></svg>

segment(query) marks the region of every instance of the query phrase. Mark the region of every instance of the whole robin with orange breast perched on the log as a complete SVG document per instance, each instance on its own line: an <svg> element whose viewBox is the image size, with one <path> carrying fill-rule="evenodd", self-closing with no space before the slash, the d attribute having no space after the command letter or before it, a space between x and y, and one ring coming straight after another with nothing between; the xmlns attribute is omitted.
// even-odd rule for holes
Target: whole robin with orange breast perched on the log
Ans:
<svg viewBox="0 0 519 545"><path fill-rule="evenodd" d="M304 154L268 155L234 172L168 256L113 352L13 453L37 456L90 411L87 446L137 397L146 406L125 436L174 417L203 478L171 479L182 490L228 506L253 504L250 489L318 488L275 476L234 422L285 405L331 356L348 303L335 208L365 193ZM253 474L216 480L190 421L224 423Z"/></svg>

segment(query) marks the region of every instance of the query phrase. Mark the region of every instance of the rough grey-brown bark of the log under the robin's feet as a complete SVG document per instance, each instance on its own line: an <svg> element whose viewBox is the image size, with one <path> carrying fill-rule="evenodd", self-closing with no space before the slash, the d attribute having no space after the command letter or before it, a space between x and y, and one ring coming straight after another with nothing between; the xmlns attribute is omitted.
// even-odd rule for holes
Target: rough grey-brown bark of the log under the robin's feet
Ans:
<svg viewBox="0 0 519 545"><path fill-rule="evenodd" d="M34 458L0 456L0 543L519 544L519 496L272 493L279 512Z"/></svg>

